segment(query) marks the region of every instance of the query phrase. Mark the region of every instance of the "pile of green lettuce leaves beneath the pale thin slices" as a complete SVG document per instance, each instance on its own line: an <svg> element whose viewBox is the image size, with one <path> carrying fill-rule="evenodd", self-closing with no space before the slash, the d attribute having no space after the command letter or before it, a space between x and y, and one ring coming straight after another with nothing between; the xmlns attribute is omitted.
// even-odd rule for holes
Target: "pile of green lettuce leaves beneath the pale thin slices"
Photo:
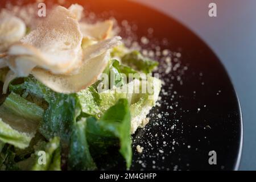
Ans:
<svg viewBox="0 0 256 182"><path fill-rule="evenodd" d="M114 49L112 56L117 54ZM131 84L123 75L151 73L157 65L137 51L123 53L121 61L109 61L104 73L118 79L101 93L99 82L79 93L63 94L33 76L14 80L0 103L0 169L96 170L101 169L100 159L111 158L112 152L118 152L129 169L131 122L146 117L143 109L151 109L159 93L111 91L124 85L140 88L145 84L141 78L134 77ZM0 69L0 81L5 74ZM158 78L151 79L160 85ZM154 100L148 99L151 95Z"/></svg>

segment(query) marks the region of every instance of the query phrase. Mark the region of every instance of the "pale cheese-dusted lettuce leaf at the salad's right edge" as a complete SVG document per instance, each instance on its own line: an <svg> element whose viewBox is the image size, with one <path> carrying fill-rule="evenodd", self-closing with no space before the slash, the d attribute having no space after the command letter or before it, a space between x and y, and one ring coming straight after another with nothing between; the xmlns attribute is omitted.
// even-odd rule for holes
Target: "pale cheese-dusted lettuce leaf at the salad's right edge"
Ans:
<svg viewBox="0 0 256 182"><path fill-rule="evenodd" d="M142 88L147 88L148 84L152 86L152 93L142 93ZM82 103L82 110L86 111L87 107L97 109L97 118L100 118L109 107L115 105L115 103L125 98L129 102L131 112L131 133L134 133L138 127L143 127L143 119L155 106L156 101L161 88L161 81L155 77L148 77L147 81L134 79L129 84L123 85L122 88L114 88L105 90L104 92L98 93L96 97L89 97L90 101L86 101L86 97L82 97L83 93L79 94L79 100ZM135 92L135 90L139 90ZM89 92L88 89L83 92ZM86 94L84 94L86 96ZM91 94L92 95L92 94ZM96 103L97 101L97 103ZM93 103L90 106L86 106L86 103ZM86 106L86 107L84 107Z"/></svg>

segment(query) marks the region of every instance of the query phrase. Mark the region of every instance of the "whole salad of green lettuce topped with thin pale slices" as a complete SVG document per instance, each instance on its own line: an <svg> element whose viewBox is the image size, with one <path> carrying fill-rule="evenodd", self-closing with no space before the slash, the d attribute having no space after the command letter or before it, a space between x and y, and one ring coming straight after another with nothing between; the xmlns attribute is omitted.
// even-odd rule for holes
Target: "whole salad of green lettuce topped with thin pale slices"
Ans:
<svg viewBox="0 0 256 182"><path fill-rule="evenodd" d="M112 151L131 167L131 135L159 98L158 61L83 11L56 6L32 27L1 10L1 170L97 170Z"/></svg>

